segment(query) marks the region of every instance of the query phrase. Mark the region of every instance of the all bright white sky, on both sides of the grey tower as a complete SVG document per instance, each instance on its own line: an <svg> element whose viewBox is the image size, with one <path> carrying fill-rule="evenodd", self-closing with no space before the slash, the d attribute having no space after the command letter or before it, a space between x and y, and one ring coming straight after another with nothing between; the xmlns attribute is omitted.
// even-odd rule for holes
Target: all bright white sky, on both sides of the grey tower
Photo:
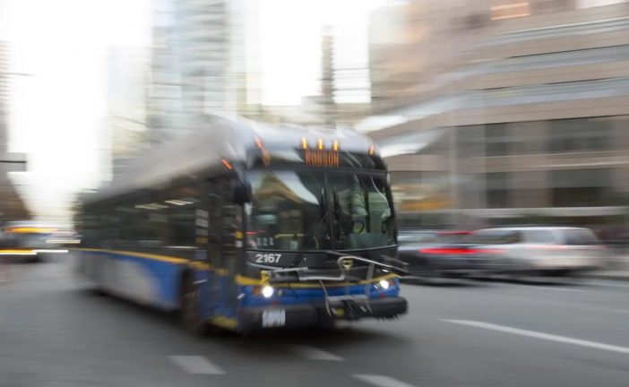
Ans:
<svg viewBox="0 0 629 387"><path fill-rule="evenodd" d="M339 35L339 63L366 67L366 16L384 0L249 1L261 99L297 105L318 92L323 25ZM9 150L28 171L11 178L39 217L67 219L74 194L106 175L107 49L150 45L150 26L151 0L0 0L11 72L25 74L11 77Z"/></svg>

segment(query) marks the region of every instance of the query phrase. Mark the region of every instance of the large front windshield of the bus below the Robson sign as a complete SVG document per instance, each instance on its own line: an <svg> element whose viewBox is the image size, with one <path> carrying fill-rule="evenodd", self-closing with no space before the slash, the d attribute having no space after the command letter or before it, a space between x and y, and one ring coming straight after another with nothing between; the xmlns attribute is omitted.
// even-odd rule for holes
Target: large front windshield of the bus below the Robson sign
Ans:
<svg viewBox="0 0 629 387"><path fill-rule="evenodd" d="M323 170L254 170L246 206L254 250L360 250L394 245L383 176Z"/></svg>

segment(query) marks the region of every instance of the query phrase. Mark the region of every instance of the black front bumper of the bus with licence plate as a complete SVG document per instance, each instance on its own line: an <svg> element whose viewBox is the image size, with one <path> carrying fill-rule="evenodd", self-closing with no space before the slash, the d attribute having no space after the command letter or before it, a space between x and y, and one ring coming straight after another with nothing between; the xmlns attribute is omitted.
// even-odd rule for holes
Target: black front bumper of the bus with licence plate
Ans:
<svg viewBox="0 0 629 387"><path fill-rule="evenodd" d="M330 305L330 312L323 304L254 306L241 310L239 328L242 331L258 331L272 328L299 328L324 325L337 320L362 318L391 319L406 314L409 306L406 298L386 297L366 300L343 300Z"/></svg>

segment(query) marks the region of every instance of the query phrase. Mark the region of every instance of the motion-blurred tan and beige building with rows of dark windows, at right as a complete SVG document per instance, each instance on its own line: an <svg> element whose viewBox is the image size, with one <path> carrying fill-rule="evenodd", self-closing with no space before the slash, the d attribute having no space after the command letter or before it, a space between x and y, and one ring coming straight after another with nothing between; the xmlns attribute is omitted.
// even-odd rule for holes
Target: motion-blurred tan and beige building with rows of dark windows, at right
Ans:
<svg viewBox="0 0 629 387"><path fill-rule="evenodd" d="M373 114L358 127L387 157L407 224L626 216L629 4L600 3L373 14Z"/></svg>

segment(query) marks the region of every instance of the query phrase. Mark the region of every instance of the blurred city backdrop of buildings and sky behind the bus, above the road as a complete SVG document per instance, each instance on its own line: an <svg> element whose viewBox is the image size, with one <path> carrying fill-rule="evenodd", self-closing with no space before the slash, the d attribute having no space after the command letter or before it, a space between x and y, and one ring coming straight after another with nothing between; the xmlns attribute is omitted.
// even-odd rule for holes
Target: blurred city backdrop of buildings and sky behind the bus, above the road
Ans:
<svg viewBox="0 0 629 387"><path fill-rule="evenodd" d="M71 222L199 113L367 133L401 228L629 235L625 1L0 1L5 221Z"/></svg>

